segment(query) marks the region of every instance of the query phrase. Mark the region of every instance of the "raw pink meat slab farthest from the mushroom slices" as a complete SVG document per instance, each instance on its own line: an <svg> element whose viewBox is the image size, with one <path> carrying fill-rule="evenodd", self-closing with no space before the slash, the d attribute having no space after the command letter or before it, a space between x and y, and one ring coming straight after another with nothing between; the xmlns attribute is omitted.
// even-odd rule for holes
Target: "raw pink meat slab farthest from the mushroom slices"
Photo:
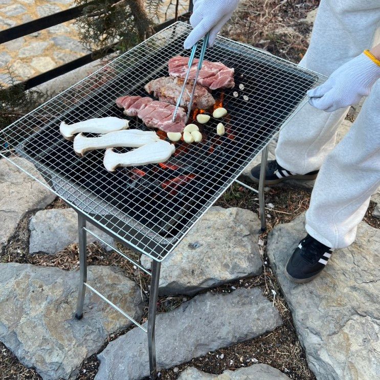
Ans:
<svg viewBox="0 0 380 380"><path fill-rule="evenodd" d="M198 59L193 60L189 74L190 79L195 78L198 61ZM170 76L185 78L188 63L189 57L178 55L170 58L168 64ZM221 62L209 62L204 60L202 69L199 71L197 83L210 88L210 90L217 90L217 88L233 88L235 86L234 69L228 68Z"/></svg>

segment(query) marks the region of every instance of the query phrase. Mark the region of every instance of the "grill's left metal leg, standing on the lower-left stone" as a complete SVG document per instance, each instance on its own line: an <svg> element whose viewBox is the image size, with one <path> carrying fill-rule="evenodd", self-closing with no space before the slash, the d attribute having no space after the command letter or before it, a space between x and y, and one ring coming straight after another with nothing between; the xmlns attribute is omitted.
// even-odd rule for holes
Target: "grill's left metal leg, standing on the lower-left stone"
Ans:
<svg viewBox="0 0 380 380"><path fill-rule="evenodd" d="M86 221L82 215L78 214L78 234L79 234L79 292L78 292L78 303L77 311L75 313L76 319L81 319L83 317L83 302L86 287L84 283L87 281L87 233L83 229L86 227Z"/></svg>

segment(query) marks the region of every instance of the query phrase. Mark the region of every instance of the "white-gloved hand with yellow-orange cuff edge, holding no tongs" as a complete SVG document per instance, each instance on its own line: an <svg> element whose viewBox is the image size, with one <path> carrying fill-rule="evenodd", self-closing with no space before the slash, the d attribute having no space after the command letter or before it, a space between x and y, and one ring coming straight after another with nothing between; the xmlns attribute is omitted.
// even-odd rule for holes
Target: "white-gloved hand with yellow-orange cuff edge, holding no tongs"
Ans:
<svg viewBox="0 0 380 380"><path fill-rule="evenodd" d="M356 104L380 78L380 62L367 50L346 62L322 85L309 90L309 103L326 112Z"/></svg>

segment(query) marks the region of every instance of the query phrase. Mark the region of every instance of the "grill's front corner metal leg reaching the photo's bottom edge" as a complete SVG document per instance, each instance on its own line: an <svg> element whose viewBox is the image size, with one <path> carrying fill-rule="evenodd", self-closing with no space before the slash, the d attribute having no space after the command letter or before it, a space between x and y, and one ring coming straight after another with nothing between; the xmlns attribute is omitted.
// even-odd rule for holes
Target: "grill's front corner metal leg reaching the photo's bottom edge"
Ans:
<svg viewBox="0 0 380 380"><path fill-rule="evenodd" d="M148 310L148 351L149 351L149 370L150 379L157 378L157 363L155 357L155 315L157 312L157 297L159 293L159 280L160 280L161 263L152 262L152 278L150 281L150 295L149 295L149 310Z"/></svg>

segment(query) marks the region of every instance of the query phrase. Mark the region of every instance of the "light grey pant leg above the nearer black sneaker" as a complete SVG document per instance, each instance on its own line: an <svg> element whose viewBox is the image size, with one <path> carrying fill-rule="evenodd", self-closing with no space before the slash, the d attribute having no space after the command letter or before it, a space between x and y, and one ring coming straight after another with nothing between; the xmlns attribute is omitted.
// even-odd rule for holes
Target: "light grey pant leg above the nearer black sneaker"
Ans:
<svg viewBox="0 0 380 380"><path fill-rule="evenodd" d="M306 212L306 231L328 247L347 247L378 186L380 79L351 129L320 169Z"/></svg>

